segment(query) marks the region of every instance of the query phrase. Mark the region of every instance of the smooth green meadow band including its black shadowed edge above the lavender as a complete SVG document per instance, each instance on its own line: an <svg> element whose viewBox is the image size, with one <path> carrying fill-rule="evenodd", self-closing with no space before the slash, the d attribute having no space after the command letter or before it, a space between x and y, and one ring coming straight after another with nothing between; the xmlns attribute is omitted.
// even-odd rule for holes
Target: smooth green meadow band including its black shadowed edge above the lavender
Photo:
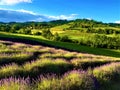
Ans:
<svg viewBox="0 0 120 90"><path fill-rule="evenodd" d="M25 34L14 34L7 32L0 32L0 38L2 40L11 40L11 41L19 41L24 43L31 43L33 45L39 44L44 46L62 48L70 51L77 51L95 55L104 55L110 57L118 57L120 58L120 50L119 49L106 49L106 48L94 48L84 45L78 45L70 42L61 42L61 41L52 41L44 38L41 35L25 35Z"/></svg>

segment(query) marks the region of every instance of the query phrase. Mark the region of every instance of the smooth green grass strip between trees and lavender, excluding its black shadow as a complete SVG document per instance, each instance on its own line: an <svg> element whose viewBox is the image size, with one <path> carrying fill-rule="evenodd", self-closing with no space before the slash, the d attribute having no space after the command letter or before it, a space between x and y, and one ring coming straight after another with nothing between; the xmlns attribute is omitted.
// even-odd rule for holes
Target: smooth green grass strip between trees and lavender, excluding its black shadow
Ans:
<svg viewBox="0 0 120 90"><path fill-rule="evenodd" d="M43 44L54 46L54 47L64 48L64 49L68 49L68 50L74 50L74 51L83 52L83 53L90 53L90 54L97 54L97 55L104 55L104 56L120 58L120 50L91 48L91 47L81 46L81 45L77 45L77 44L73 44L73 43L49 41L49 40L46 40L45 38L43 38L42 36L31 36L31 35L0 32L0 38L1 37L33 40L33 41L37 41L39 43L43 43Z"/></svg>

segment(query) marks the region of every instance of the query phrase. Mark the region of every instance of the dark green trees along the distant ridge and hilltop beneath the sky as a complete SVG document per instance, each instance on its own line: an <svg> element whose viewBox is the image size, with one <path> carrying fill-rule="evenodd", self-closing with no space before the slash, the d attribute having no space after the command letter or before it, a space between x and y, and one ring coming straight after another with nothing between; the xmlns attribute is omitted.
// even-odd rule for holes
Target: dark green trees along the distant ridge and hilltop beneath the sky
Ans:
<svg viewBox="0 0 120 90"><path fill-rule="evenodd" d="M32 29L48 29L55 26L60 26L63 24L67 24L70 27L67 28L69 30L76 29L83 32L90 33L120 33L120 30L109 29L109 27L117 27L120 28L120 24L115 23L102 23L95 20L88 19L76 19L76 20L54 20L49 22L10 22L10 23L2 23L0 22L0 31L4 32L12 32L12 33L24 33L30 34L30 30ZM99 29L95 29L98 27ZM106 29L101 29L100 27L108 27ZM79 29L80 28L80 29ZM81 29L82 28L82 29Z"/></svg>

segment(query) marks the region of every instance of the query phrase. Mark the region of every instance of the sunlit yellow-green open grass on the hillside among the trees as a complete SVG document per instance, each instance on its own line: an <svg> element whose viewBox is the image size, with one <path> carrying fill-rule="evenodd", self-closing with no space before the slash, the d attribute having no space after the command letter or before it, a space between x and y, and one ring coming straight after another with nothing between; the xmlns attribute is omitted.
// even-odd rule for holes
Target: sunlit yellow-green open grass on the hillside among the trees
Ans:
<svg viewBox="0 0 120 90"><path fill-rule="evenodd" d="M81 27L76 27L72 30L64 30L65 28L69 28L70 24L73 23L69 23L69 24L64 24L64 25L60 25L60 26L56 26L51 28L51 32L54 33L58 33L61 36L67 35L69 36L70 39L74 39L74 40L79 40L80 38L86 38L89 36L92 36L94 33L84 33L84 32L80 32L79 30L76 29L85 29L85 28L81 28ZM119 28L115 28L115 27L94 27L94 29L114 29L114 30L120 30ZM118 34L120 35L120 34ZM109 34L108 36L113 36L113 34Z"/></svg>

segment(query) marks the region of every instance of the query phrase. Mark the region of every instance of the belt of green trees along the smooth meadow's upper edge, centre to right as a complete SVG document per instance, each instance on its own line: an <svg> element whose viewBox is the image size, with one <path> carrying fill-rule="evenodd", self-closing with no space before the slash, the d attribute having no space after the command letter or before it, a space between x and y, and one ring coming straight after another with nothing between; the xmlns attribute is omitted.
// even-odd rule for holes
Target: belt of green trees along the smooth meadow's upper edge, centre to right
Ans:
<svg viewBox="0 0 120 90"><path fill-rule="evenodd" d="M120 36L110 37L104 34L94 34L79 40L72 40L66 35L60 36L58 33L53 35L49 29L43 30L42 35L53 41L71 42L95 48L120 49Z"/></svg>

